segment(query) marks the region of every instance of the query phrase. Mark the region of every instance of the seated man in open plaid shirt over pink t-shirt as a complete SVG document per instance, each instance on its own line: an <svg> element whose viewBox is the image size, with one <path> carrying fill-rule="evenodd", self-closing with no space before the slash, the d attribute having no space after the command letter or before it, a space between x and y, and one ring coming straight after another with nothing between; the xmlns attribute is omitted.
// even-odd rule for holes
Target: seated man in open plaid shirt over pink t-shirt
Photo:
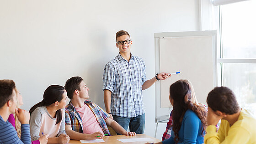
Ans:
<svg viewBox="0 0 256 144"><path fill-rule="evenodd" d="M82 77L71 77L67 80L65 89L71 100L65 113L65 129L70 139L102 139L103 134L110 135L107 125L119 134L136 135L134 132L127 132L109 118L107 112L87 100L89 87Z"/></svg>

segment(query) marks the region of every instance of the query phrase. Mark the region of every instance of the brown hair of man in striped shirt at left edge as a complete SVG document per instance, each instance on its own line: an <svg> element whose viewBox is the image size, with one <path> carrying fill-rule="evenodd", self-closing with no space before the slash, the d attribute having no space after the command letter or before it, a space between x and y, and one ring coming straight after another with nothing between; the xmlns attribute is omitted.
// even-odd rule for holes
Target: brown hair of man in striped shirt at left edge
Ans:
<svg viewBox="0 0 256 144"><path fill-rule="evenodd" d="M13 80L0 80L0 108L2 108L9 100L12 100L13 89L15 89L15 87L15 82L13 82Z"/></svg>

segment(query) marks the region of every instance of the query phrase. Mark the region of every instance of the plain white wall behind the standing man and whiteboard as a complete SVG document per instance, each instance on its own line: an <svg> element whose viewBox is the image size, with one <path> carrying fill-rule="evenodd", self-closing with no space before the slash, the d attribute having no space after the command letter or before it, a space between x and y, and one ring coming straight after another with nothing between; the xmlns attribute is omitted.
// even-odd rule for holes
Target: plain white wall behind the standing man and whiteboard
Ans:
<svg viewBox="0 0 256 144"><path fill-rule="evenodd" d="M198 31L198 0L0 0L0 79L13 79L29 110L49 85L81 76L102 108L102 74L126 30L155 75L154 32ZM155 134L155 86L143 92L145 134ZM161 139L166 124L160 124Z"/></svg>

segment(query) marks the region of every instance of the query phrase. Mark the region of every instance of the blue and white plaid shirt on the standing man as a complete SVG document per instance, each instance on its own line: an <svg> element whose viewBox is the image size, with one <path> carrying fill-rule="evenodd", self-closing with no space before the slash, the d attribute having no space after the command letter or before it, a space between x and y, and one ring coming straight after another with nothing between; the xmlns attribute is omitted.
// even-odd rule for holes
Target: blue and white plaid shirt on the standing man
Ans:
<svg viewBox="0 0 256 144"><path fill-rule="evenodd" d="M103 73L103 91L112 92L111 113L120 117L133 118L145 113L142 85L146 82L144 60L131 54L130 61L119 53L108 62Z"/></svg>

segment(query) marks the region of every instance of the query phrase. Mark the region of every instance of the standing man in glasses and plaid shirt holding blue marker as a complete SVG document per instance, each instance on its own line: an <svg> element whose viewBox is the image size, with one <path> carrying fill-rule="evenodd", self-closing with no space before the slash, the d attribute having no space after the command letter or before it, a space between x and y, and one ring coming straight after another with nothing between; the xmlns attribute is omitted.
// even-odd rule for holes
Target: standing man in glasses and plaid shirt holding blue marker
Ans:
<svg viewBox="0 0 256 144"><path fill-rule="evenodd" d="M157 80L165 80L169 73L159 73L146 80L144 60L131 54L132 41L127 31L116 33L119 54L108 62L103 73L104 103L107 113L125 130L143 134L145 109L142 90Z"/></svg>

